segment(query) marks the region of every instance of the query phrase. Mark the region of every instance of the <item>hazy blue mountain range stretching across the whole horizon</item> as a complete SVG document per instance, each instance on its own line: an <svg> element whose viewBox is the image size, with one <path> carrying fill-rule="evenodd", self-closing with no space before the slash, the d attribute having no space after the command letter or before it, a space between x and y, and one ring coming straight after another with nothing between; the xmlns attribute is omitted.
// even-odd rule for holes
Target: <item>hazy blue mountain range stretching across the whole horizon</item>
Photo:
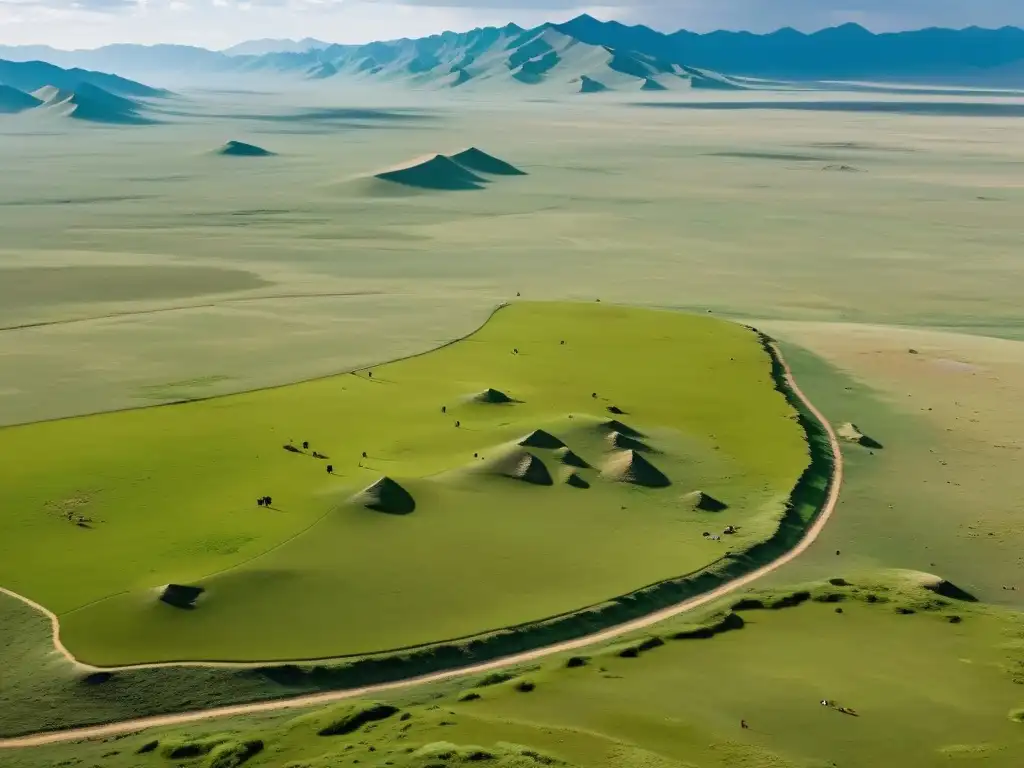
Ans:
<svg viewBox="0 0 1024 768"><path fill-rule="evenodd" d="M1024 30L928 29L876 35L844 25L813 34L792 29L768 35L664 34L582 15L531 30L508 25L366 45L329 45L307 38L250 41L224 51L180 45L122 44L76 51L0 46L0 58L42 59L142 79L274 72L318 80L404 79L421 87L462 87L495 79L580 90L751 87L745 79L1007 87L1024 85Z"/></svg>

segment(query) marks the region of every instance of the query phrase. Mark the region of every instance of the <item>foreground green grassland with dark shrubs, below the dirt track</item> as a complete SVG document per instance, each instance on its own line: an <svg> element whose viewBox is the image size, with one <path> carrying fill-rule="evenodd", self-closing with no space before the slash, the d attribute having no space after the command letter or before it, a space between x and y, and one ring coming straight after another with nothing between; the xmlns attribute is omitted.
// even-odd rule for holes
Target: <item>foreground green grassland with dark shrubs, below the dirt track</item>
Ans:
<svg viewBox="0 0 1024 768"><path fill-rule="evenodd" d="M5 765L1016 766L1021 614L920 577L752 592L584 655L380 701L11 752Z"/></svg>

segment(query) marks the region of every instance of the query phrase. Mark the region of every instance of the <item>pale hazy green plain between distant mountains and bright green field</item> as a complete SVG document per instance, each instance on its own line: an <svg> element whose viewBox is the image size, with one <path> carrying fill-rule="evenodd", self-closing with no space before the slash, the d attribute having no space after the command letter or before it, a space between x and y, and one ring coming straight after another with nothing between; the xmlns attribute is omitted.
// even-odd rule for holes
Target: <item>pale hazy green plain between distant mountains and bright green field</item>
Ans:
<svg viewBox="0 0 1024 768"><path fill-rule="evenodd" d="M186 94L186 116L137 129L0 124L0 266L95 269L110 286L58 284L27 306L0 280L0 326L61 322L0 332L0 423L383 362L468 333L516 292L998 334L1024 322L1017 120L334 87ZM792 98L758 94L776 97ZM214 154L228 139L276 155ZM468 145L528 175L338 191Z"/></svg>

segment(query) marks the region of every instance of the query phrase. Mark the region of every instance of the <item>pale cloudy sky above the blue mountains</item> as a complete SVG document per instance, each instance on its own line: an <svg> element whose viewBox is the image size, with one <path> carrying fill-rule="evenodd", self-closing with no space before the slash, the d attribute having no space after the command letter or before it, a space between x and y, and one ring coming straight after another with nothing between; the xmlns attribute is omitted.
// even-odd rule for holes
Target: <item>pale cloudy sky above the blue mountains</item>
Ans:
<svg viewBox="0 0 1024 768"><path fill-rule="evenodd" d="M591 0L592 2L595 0ZM0 45L92 48L184 43L223 48L257 38L358 43L582 12L664 31L813 31L857 22L876 31L1024 27L1024 0L0 0Z"/></svg>

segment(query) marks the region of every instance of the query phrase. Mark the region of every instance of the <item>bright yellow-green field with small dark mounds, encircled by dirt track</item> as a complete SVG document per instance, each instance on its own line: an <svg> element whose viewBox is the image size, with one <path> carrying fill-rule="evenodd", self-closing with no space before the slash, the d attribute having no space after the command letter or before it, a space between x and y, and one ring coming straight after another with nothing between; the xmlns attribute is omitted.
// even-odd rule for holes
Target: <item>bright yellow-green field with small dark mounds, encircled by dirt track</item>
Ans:
<svg viewBox="0 0 1024 768"><path fill-rule="evenodd" d="M492 386L516 402L468 400ZM0 432L0 583L58 613L66 645L99 665L315 658L462 637L768 539L808 461L795 416L740 326L513 304L464 341L372 371ZM643 432L671 486L603 476L611 418ZM589 463L589 489L561 483L568 468L546 447L526 450L550 487L487 471L535 429ZM385 475L412 494L412 514L348 501ZM728 511L694 509L686 495L697 489ZM263 495L271 508L256 506ZM738 532L701 536L727 523ZM158 600L166 584L208 594L182 610Z"/></svg>

